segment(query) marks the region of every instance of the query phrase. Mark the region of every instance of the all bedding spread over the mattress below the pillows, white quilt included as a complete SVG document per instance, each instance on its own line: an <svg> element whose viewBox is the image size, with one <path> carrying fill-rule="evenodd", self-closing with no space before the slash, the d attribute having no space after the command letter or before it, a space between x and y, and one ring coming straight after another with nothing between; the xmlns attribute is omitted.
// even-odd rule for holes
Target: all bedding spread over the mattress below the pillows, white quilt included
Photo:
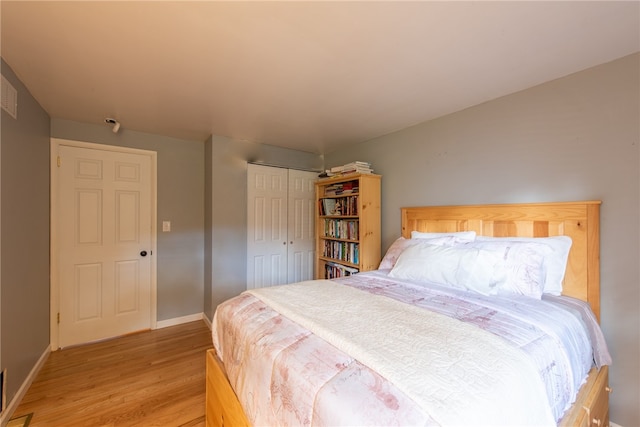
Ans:
<svg viewBox="0 0 640 427"><path fill-rule="evenodd" d="M582 301L489 297L387 273L295 285L302 299L288 295L295 287L270 288L218 306L213 345L252 425L477 426L514 424L512 419L549 425L554 423L547 410L535 409L544 407L544 397L527 363L535 365L557 421L594 360L598 366L611 362L595 317ZM264 296L272 292L280 295ZM259 297L273 299L270 304L278 309ZM308 324L307 315L320 322ZM456 342L454 329L469 340ZM385 342L369 336L371 331L386 331ZM425 339L431 344L423 345ZM479 340L495 360L476 358ZM514 367L523 354L529 361ZM438 379L434 369L446 379ZM494 376L491 369L504 375ZM511 403L525 399L524 409ZM485 407L483 400L492 402ZM463 410L445 407L450 403Z"/></svg>

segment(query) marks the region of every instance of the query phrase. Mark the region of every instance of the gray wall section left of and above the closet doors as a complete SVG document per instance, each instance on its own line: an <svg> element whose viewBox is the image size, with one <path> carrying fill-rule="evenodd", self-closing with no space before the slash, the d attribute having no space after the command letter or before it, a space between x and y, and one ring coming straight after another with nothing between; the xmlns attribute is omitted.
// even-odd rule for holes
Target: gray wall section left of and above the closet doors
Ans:
<svg viewBox="0 0 640 427"><path fill-rule="evenodd" d="M247 162L322 170L323 158L270 145L213 136L206 141L207 225L205 314L247 288Z"/></svg>

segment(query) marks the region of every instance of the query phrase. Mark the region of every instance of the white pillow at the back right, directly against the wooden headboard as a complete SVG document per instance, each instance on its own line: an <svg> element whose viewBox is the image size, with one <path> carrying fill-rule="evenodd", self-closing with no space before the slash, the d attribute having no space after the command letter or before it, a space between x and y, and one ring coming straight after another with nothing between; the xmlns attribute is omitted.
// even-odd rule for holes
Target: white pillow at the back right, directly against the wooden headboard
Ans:
<svg viewBox="0 0 640 427"><path fill-rule="evenodd" d="M540 249L540 254L544 258L544 290L545 294L561 295L562 281L567 269L567 259L571 249L571 237L551 236L551 237L485 237L478 236L476 244L481 242L525 242L545 245L546 248L532 246L532 249ZM477 246L482 248L482 246Z"/></svg>

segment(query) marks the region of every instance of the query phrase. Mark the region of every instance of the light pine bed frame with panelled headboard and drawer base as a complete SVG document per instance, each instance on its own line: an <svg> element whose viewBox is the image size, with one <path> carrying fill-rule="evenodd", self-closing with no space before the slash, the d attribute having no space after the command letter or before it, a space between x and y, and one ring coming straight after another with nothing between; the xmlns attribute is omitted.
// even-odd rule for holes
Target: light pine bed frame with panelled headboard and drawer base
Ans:
<svg viewBox="0 0 640 427"><path fill-rule="evenodd" d="M402 235L412 230L474 230L481 236L572 239L563 294L588 301L600 319L600 202L533 203L402 208ZM561 426L609 425L608 367L591 370ZM207 353L207 426L249 425L214 350Z"/></svg>

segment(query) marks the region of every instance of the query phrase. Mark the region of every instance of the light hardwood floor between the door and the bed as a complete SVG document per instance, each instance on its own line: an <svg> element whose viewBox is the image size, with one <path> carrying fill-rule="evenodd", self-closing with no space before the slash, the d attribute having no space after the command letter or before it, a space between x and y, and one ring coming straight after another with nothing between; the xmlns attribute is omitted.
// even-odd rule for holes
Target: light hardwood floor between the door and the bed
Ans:
<svg viewBox="0 0 640 427"><path fill-rule="evenodd" d="M13 414L38 426L204 426L203 321L52 352Z"/></svg>

